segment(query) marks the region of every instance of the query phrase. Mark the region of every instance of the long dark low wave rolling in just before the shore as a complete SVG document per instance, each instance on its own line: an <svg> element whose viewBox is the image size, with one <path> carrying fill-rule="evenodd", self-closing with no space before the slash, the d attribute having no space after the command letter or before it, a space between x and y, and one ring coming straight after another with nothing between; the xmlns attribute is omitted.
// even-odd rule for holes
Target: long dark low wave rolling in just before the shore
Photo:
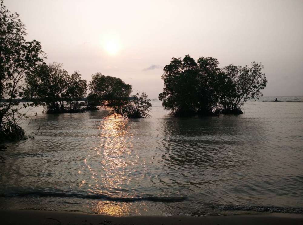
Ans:
<svg viewBox="0 0 303 225"><path fill-rule="evenodd" d="M123 197L110 197L107 195L100 194L76 194L76 193L58 193L58 192L23 192L23 193L0 193L1 197L27 197L27 196L38 196L38 197L68 197L68 198L83 198L83 199L102 199L108 201L117 202L137 202L137 201L151 201L151 202L182 202L186 200L186 197L157 197L157 196L142 196L134 198L123 198Z"/></svg>

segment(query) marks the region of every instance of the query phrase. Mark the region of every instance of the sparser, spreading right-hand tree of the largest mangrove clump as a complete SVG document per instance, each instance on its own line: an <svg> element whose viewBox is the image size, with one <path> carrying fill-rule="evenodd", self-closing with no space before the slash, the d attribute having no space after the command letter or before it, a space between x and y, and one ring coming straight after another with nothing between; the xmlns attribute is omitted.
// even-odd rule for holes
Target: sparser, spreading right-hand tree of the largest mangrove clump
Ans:
<svg viewBox="0 0 303 225"><path fill-rule="evenodd" d="M229 65L221 69L219 79L219 103L223 114L241 114L241 106L250 99L263 96L267 79L262 73L263 65L252 62L245 67Z"/></svg>

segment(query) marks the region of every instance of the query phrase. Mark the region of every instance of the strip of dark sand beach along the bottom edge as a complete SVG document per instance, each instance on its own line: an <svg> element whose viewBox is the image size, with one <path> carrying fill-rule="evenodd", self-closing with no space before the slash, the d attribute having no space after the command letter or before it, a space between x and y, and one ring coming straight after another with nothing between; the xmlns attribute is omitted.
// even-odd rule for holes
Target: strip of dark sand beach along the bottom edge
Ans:
<svg viewBox="0 0 303 225"><path fill-rule="evenodd" d="M106 215L93 215L74 212L53 212L39 210L2 210L0 211L0 224L28 224L28 225L225 225L225 224L303 224L303 215L283 213L262 213L257 215L238 216L135 216L112 217Z"/></svg>

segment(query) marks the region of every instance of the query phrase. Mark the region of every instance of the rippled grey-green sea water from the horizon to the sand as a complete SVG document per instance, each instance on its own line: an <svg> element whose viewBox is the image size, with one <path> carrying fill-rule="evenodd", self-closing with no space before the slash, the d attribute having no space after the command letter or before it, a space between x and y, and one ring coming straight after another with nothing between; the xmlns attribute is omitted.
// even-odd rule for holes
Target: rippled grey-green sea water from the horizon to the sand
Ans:
<svg viewBox="0 0 303 225"><path fill-rule="evenodd" d="M274 99L238 116L171 118L158 100L147 119L39 113L0 151L0 209L303 213L303 97Z"/></svg>

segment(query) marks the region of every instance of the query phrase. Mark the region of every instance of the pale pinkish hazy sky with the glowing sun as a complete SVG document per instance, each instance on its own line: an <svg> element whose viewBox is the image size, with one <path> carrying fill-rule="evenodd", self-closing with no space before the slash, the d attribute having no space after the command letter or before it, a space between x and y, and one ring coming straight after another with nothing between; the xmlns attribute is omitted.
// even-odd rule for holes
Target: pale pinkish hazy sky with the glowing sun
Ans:
<svg viewBox="0 0 303 225"><path fill-rule="evenodd" d="M262 62L265 96L303 95L303 0L5 0L46 62L84 79L102 72L157 98L172 57L220 67Z"/></svg>

